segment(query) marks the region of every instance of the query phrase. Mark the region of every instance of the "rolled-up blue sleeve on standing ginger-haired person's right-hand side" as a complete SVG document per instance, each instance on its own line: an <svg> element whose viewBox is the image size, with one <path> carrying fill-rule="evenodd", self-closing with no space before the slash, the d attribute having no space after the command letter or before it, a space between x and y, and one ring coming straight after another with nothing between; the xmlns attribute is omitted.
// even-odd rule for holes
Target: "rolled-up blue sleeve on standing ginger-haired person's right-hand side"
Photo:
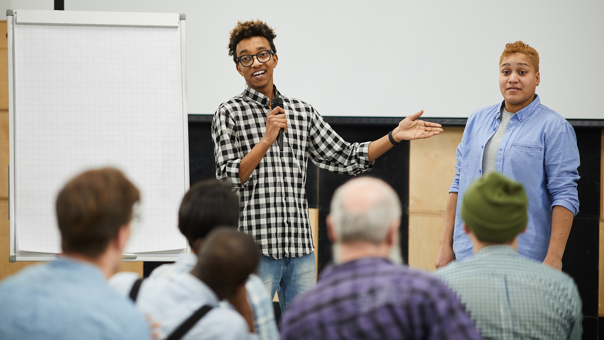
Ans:
<svg viewBox="0 0 604 340"><path fill-rule="evenodd" d="M574 129L568 122L559 125L545 143L545 174L551 208L563 206L574 215L579 212L579 149Z"/></svg>

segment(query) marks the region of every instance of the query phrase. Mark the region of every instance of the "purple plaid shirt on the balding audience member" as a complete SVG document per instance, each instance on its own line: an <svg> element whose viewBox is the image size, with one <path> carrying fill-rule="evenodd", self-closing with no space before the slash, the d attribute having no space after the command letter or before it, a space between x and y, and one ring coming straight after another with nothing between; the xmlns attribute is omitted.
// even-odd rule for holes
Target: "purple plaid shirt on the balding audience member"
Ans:
<svg viewBox="0 0 604 340"><path fill-rule="evenodd" d="M288 339L481 339L459 300L427 272L385 258L329 267L285 313Z"/></svg>

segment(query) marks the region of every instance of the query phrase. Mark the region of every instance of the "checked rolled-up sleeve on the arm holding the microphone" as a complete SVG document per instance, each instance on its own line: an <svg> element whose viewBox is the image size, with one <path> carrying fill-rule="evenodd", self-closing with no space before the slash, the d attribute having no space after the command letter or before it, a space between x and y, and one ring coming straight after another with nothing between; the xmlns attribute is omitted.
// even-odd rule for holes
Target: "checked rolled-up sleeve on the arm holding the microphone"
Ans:
<svg viewBox="0 0 604 340"><path fill-rule="evenodd" d="M216 178L229 181L236 188L243 188L247 181L241 183L239 180L239 165L244 155L237 139L237 126L222 108L216 111L212 119L211 136L214 143Z"/></svg>

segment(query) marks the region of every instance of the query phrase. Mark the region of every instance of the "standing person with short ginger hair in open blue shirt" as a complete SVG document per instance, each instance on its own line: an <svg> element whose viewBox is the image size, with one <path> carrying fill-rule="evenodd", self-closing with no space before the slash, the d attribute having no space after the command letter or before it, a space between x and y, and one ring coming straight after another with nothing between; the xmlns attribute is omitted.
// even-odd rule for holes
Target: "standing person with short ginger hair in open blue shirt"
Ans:
<svg viewBox="0 0 604 340"><path fill-rule="evenodd" d="M455 177L449 189L437 268L472 256L460 204L472 181L497 171L524 185L528 224L518 237L518 253L561 269L562 255L579 212L579 150L574 129L541 103L539 54L517 41L500 57L503 103L475 111L457 147Z"/></svg>

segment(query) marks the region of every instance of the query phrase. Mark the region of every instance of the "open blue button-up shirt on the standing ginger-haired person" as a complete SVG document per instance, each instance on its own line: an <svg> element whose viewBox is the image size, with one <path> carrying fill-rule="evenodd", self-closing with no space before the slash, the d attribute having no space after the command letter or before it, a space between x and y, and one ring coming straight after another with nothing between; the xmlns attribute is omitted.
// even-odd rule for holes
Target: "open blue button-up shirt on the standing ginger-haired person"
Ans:
<svg viewBox="0 0 604 340"><path fill-rule="evenodd" d="M483 175L486 143L500 125L501 103L473 113L457 146L455 177L449 192L458 192L453 242L456 260L472 256L472 242L463 230L461 201L467 187ZM528 224L518 237L518 253L543 261L551 235L551 211L563 206L579 212L577 183L579 149L574 129L562 116L542 105L539 97L512 116L497 151L495 171L524 185Z"/></svg>

